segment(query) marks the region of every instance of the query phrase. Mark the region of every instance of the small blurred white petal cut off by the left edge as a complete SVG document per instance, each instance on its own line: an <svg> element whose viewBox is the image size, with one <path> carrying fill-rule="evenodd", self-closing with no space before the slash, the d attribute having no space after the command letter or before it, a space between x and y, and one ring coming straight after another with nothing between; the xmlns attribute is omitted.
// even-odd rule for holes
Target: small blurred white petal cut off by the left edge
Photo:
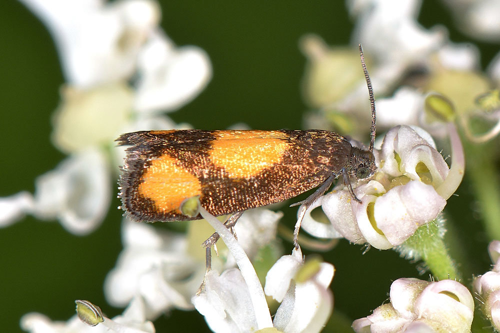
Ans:
<svg viewBox="0 0 500 333"><path fill-rule="evenodd" d="M0 198L0 227L7 227L29 214L33 209L33 196L29 192Z"/></svg>

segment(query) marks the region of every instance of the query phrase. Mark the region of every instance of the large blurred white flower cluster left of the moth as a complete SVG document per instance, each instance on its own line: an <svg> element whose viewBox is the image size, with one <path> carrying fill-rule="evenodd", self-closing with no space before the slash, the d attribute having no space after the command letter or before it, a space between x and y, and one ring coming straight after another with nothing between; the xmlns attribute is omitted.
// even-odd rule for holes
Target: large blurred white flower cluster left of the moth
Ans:
<svg viewBox="0 0 500 333"><path fill-rule="evenodd" d="M159 112L194 98L211 77L210 63L200 48L169 40L152 0L22 2L47 26L59 53L66 83L52 141L69 156L36 179L34 195L0 198L0 226L32 214L88 234L107 212L110 178L123 159L123 149L110 149L114 139L179 127Z"/></svg>

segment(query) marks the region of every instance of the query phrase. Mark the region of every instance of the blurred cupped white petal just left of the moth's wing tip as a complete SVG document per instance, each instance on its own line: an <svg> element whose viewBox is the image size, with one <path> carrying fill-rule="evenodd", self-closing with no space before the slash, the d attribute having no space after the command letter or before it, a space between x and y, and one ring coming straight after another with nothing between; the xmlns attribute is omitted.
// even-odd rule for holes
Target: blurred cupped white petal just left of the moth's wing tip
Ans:
<svg viewBox="0 0 500 333"><path fill-rule="evenodd" d="M69 232L84 235L97 228L109 207L109 169L102 152L70 156L36 179L33 214L57 218Z"/></svg>

